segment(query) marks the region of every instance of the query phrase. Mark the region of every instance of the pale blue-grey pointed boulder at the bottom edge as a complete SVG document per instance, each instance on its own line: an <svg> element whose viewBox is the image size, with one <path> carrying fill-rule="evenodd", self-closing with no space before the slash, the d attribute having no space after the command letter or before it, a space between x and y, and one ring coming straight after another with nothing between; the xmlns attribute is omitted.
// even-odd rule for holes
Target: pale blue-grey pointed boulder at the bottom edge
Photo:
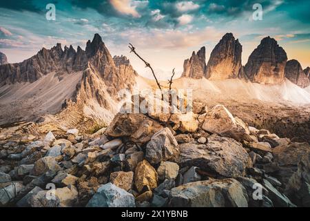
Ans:
<svg viewBox="0 0 310 221"><path fill-rule="evenodd" d="M112 183L101 185L87 207L135 207L134 196Z"/></svg>

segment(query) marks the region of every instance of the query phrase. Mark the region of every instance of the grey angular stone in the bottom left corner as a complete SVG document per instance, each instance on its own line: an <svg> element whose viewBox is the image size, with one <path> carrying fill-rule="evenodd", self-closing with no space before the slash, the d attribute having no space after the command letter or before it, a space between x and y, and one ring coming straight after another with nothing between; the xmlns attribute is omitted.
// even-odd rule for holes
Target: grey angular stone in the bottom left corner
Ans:
<svg viewBox="0 0 310 221"><path fill-rule="evenodd" d="M23 189L21 182L12 182L10 185L0 189L0 206L6 206Z"/></svg>

